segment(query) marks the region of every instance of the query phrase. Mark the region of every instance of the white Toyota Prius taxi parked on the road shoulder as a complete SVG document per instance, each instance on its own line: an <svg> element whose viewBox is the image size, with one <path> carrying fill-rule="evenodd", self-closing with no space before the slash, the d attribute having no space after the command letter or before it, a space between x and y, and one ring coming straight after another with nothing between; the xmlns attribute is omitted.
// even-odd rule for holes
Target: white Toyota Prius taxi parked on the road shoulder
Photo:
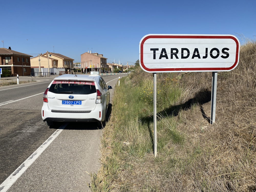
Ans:
<svg viewBox="0 0 256 192"><path fill-rule="evenodd" d="M99 75L64 74L56 77L44 92L42 119L54 122L98 122L105 126L111 86Z"/></svg>

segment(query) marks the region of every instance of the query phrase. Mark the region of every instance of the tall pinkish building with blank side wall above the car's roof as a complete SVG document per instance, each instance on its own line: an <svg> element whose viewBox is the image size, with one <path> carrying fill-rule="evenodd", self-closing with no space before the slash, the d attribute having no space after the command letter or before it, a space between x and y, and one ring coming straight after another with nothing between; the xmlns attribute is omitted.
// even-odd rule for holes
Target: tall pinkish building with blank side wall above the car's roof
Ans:
<svg viewBox="0 0 256 192"><path fill-rule="evenodd" d="M96 68L97 71L105 72L105 69L100 68L107 68L107 58L103 57L102 54L91 53L91 51L89 53L88 51L81 54L81 66L88 67L87 71Z"/></svg>

